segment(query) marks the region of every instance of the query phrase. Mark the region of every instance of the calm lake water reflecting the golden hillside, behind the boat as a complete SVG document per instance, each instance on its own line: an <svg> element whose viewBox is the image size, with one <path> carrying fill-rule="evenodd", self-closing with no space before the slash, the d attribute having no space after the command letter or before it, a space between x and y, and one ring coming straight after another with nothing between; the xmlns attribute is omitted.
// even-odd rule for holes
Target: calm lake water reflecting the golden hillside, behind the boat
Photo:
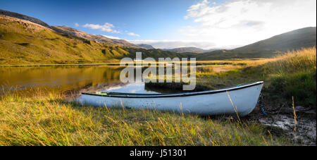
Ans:
<svg viewBox="0 0 317 160"><path fill-rule="evenodd" d="M121 70L111 66L4 67L0 68L0 90L162 92L149 90L144 83L123 84L120 82Z"/></svg>

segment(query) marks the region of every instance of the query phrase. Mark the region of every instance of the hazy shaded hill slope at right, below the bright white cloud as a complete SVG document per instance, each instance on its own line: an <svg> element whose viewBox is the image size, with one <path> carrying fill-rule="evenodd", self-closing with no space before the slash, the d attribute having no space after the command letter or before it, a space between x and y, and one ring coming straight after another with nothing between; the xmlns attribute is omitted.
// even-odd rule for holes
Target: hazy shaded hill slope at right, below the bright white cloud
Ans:
<svg viewBox="0 0 317 160"><path fill-rule="evenodd" d="M205 59L246 59L269 58L285 51L316 46L316 27L305 27L281 35L276 35L254 44L231 50L211 51L197 55L198 60Z"/></svg>

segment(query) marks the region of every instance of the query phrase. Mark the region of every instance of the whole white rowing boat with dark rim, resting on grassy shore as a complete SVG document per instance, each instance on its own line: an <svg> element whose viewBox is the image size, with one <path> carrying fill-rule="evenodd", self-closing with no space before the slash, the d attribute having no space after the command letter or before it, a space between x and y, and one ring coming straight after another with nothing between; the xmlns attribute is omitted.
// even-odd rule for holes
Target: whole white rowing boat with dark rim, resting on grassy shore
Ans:
<svg viewBox="0 0 317 160"><path fill-rule="evenodd" d="M259 99L263 82L222 90L174 94L119 92L82 93L76 101L93 106L124 106L127 109L157 109L201 115L236 114L246 116Z"/></svg>

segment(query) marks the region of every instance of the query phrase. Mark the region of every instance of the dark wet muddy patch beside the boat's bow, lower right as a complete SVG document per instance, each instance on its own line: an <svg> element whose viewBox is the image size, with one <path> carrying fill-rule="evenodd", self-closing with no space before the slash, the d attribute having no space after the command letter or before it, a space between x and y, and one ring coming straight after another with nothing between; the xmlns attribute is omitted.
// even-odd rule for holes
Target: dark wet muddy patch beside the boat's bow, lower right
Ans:
<svg viewBox="0 0 317 160"><path fill-rule="evenodd" d="M316 146L316 109L281 105L276 109L266 107L266 115L259 106L247 116L247 119L268 126L275 137L286 137L295 145ZM296 121L295 121L296 117Z"/></svg>

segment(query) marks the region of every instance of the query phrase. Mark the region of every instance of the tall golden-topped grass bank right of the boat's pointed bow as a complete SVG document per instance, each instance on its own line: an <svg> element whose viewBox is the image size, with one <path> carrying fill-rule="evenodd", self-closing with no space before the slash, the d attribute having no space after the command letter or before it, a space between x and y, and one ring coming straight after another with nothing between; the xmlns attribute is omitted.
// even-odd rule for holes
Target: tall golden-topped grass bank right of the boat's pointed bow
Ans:
<svg viewBox="0 0 317 160"><path fill-rule="evenodd" d="M263 68L270 78L268 94L316 107L316 47L289 51Z"/></svg>

